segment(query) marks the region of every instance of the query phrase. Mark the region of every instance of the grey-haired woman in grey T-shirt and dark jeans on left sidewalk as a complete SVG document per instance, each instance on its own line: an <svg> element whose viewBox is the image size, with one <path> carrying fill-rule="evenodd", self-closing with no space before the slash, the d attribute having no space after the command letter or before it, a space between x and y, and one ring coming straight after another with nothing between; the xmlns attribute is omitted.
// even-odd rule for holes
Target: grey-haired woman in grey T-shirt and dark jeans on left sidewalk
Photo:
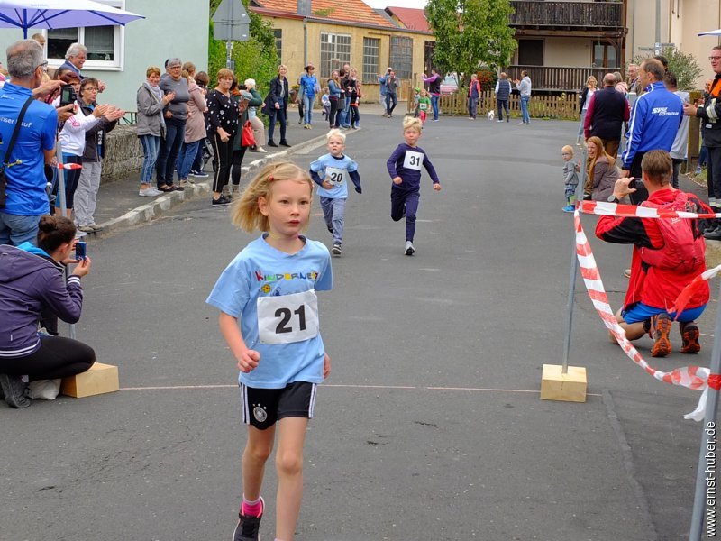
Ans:
<svg viewBox="0 0 721 541"><path fill-rule="evenodd" d="M156 163L156 181L161 191L183 191L185 188L173 184L173 170L178 162L180 145L186 133L187 102L190 93L187 80L183 77L183 64L178 58L166 62L167 73L160 78L160 89L164 94L172 92L175 96L163 110L165 118L165 136L160 138L160 152Z"/></svg>

